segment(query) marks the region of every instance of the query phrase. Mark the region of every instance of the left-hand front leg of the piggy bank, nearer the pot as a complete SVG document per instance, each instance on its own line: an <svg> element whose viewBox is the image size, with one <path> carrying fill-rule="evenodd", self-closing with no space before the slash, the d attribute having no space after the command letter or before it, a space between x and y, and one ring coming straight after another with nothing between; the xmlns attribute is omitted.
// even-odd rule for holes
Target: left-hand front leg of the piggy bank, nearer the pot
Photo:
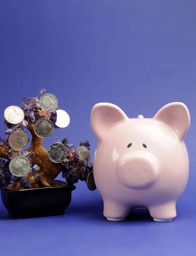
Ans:
<svg viewBox="0 0 196 256"><path fill-rule="evenodd" d="M130 206L104 199L104 216L109 221L123 221L129 212Z"/></svg>

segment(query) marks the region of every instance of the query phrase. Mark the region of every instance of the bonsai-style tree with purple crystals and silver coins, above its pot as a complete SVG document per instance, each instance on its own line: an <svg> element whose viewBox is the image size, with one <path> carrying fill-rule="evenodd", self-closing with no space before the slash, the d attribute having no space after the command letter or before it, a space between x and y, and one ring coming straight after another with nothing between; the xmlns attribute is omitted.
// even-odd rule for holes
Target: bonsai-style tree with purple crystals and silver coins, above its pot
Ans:
<svg viewBox="0 0 196 256"><path fill-rule="evenodd" d="M92 173L89 142L76 149L67 138L61 142L55 137L48 151L43 139L54 128L69 125L69 115L58 107L58 100L45 89L34 98L24 97L22 107L9 106L4 112L6 137L0 137L0 188L29 189L58 186L55 178L62 172L68 184L86 181ZM26 129L32 135L29 143Z"/></svg>

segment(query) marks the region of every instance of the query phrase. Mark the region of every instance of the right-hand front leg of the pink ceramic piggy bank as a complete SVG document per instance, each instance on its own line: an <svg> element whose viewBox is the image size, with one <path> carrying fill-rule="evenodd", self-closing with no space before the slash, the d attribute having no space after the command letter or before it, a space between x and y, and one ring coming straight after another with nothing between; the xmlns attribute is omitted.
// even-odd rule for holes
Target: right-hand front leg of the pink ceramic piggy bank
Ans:
<svg viewBox="0 0 196 256"><path fill-rule="evenodd" d="M172 221L176 217L176 202L167 202L148 208L154 221Z"/></svg>

